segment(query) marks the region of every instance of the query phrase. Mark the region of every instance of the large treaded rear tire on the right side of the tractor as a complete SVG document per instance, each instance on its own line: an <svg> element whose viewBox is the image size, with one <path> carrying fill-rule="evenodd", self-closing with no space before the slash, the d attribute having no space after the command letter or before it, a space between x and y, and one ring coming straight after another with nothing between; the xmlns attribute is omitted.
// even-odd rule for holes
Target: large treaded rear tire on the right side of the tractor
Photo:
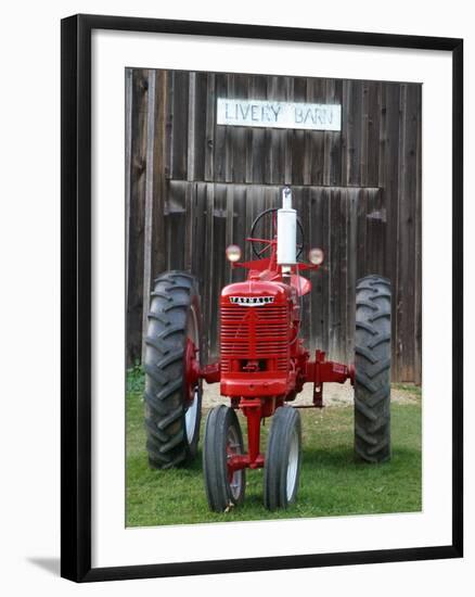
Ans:
<svg viewBox="0 0 475 597"><path fill-rule="evenodd" d="M356 289L355 453L365 462L390 458L390 283L381 276Z"/></svg>

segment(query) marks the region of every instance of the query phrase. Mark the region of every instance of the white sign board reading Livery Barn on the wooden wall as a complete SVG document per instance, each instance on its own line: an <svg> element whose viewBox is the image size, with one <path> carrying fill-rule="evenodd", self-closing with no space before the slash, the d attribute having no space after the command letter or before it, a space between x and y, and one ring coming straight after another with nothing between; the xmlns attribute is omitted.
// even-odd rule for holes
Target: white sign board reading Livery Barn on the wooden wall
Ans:
<svg viewBox="0 0 475 597"><path fill-rule="evenodd" d="M341 130L342 106L218 98L218 125Z"/></svg>

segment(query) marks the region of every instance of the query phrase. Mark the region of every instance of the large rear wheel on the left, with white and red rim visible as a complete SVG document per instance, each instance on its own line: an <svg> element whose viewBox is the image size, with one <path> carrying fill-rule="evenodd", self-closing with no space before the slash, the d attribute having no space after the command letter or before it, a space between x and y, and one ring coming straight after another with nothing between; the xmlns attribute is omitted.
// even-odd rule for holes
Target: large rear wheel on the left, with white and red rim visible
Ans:
<svg viewBox="0 0 475 597"><path fill-rule="evenodd" d="M167 469L189 463L200 439L202 384L190 382L200 363L201 312L197 282L183 271L155 280L146 329L145 431L149 462Z"/></svg>

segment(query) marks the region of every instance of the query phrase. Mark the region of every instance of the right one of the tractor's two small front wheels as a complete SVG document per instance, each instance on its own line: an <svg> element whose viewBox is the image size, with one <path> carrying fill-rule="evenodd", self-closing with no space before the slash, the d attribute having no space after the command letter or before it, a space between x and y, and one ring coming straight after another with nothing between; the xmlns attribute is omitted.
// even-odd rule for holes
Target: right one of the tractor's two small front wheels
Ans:
<svg viewBox="0 0 475 597"><path fill-rule="evenodd" d="M268 510L295 501L300 477L300 414L281 406L272 417L264 470L264 504Z"/></svg>

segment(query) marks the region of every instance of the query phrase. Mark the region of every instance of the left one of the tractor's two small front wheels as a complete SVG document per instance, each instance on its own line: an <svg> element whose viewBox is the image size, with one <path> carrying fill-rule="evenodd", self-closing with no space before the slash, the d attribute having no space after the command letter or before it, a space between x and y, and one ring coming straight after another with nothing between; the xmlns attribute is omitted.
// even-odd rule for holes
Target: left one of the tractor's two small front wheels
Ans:
<svg viewBox="0 0 475 597"><path fill-rule="evenodd" d="M206 418L203 470L210 510L223 512L244 499L245 469L229 472L232 455L244 454L243 434L235 411L229 406L213 408Z"/></svg>

